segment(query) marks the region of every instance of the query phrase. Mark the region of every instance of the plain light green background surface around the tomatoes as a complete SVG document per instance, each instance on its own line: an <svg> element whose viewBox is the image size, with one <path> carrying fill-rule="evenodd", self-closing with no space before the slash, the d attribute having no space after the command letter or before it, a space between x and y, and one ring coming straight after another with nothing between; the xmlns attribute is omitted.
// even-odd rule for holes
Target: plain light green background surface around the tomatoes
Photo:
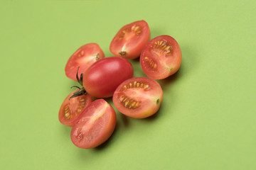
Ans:
<svg viewBox="0 0 256 170"><path fill-rule="evenodd" d="M0 169L256 169L255 1L1 1ZM80 149L58 121L81 45L107 57L122 26L171 35L181 68L143 120L117 112L104 145ZM134 76L145 76L131 61ZM108 101L111 102L111 99Z"/></svg>

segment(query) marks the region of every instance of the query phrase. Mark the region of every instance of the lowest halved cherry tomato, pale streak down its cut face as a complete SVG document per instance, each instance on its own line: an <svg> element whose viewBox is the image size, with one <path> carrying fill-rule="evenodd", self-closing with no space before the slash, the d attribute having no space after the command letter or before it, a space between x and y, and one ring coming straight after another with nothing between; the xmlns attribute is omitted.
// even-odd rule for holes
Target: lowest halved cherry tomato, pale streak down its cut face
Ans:
<svg viewBox="0 0 256 170"><path fill-rule="evenodd" d="M103 99L97 99L85 108L71 130L71 140L77 147L90 149L105 142L117 122L112 106Z"/></svg>

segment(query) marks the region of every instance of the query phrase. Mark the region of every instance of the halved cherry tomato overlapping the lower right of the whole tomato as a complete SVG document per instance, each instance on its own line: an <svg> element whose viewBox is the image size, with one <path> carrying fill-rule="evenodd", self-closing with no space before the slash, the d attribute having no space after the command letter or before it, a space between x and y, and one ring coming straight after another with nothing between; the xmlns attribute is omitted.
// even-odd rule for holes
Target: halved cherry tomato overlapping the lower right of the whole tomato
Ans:
<svg viewBox="0 0 256 170"><path fill-rule="evenodd" d="M147 118L159 110L162 98L163 91L157 81L147 77L134 77L117 87L113 103L124 115Z"/></svg>

